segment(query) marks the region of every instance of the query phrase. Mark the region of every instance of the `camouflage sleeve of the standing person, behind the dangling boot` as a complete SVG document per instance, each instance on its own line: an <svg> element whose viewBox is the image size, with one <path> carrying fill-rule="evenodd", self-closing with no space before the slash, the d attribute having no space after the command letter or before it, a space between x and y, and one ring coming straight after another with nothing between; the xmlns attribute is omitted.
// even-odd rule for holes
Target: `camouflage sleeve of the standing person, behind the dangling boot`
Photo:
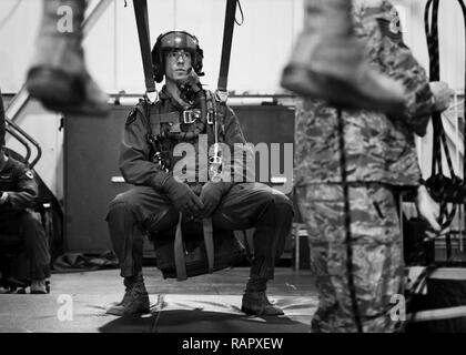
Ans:
<svg viewBox="0 0 466 355"><path fill-rule="evenodd" d="M392 119L403 120L414 133L425 135L435 101L425 69L403 41L395 7L387 0L358 0L355 3L356 19L366 32L368 51L382 71L405 88L406 110Z"/></svg>

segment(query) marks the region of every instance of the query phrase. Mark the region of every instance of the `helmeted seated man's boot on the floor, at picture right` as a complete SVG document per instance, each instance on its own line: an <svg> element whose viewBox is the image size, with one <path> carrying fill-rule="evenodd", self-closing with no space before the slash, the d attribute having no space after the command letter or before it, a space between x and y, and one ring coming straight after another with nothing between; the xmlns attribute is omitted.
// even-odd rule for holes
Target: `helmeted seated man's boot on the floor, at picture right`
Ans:
<svg viewBox="0 0 466 355"><path fill-rule="evenodd" d="M266 280L251 277L244 292L241 311L249 315L277 316L284 312L274 306L265 294Z"/></svg>

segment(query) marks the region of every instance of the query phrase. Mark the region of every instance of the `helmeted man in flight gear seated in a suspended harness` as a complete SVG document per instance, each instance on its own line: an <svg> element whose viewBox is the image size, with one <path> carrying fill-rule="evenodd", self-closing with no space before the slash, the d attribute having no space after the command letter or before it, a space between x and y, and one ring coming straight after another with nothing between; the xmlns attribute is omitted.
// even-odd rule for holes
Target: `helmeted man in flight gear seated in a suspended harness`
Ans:
<svg viewBox="0 0 466 355"><path fill-rule="evenodd" d="M274 265L291 232L293 204L281 192L264 184L237 179L203 179L209 146L224 143L246 149L246 141L234 112L202 89L203 51L197 39L184 31L161 34L152 50L155 80L165 85L160 100L141 100L131 111L123 133L120 170L135 186L119 194L110 204L107 221L113 248L119 257L125 294L108 313L148 313L149 296L142 276L143 235L173 229L180 213L189 219L212 219L213 227L239 231L255 227L254 256L242 300L242 311L255 315L282 315L265 294L274 276ZM209 114L205 111L209 110ZM209 146L203 146L201 140ZM199 160L188 163L195 181L181 181L176 162L179 143L190 143ZM233 156L233 153L231 154ZM247 155L247 154L246 154ZM250 156L252 156L250 152ZM210 158L219 158L217 155ZM222 176L243 172L243 158L232 161ZM224 162L225 163L225 162ZM214 164L210 169L215 168ZM219 171L217 171L219 172ZM190 175L190 173L188 173ZM243 175L244 178L244 175Z"/></svg>

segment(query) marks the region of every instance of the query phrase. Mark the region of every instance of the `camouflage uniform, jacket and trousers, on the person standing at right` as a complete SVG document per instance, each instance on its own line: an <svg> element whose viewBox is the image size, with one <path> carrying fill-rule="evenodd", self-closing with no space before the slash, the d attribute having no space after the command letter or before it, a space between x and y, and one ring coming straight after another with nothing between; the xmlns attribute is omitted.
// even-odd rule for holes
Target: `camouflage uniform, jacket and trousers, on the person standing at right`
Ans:
<svg viewBox="0 0 466 355"><path fill-rule="evenodd" d="M367 57L406 89L403 115L343 111L354 283L364 332L391 332L392 295L402 292L402 240L398 189L417 186L421 170L414 134L424 135L434 98L425 70L391 28L389 1L354 2L357 37ZM315 332L354 332L346 272L344 199L341 185L337 111L308 100L297 110L295 182L298 205L308 226L312 268L320 306Z"/></svg>

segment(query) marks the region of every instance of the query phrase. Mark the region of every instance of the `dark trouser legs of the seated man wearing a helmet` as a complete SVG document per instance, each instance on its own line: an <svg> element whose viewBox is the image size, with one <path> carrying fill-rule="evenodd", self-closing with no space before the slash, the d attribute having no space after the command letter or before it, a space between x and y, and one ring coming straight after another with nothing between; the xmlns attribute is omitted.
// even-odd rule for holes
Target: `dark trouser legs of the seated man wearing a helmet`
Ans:
<svg viewBox="0 0 466 355"><path fill-rule="evenodd" d="M212 215L214 227L241 231L255 227L251 275L273 278L293 222L293 204L284 194L260 183L235 184ZM145 231L166 231L178 223L171 201L153 187L135 186L111 203L107 221L121 276L142 268Z"/></svg>

